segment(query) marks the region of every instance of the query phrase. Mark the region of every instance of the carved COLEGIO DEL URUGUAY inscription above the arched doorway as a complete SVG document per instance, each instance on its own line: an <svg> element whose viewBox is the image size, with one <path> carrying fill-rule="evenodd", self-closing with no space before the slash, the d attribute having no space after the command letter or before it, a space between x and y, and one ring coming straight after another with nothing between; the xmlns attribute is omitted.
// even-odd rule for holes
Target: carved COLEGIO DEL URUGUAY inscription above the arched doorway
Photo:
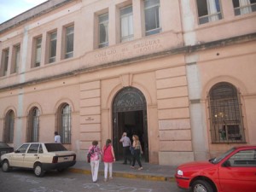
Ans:
<svg viewBox="0 0 256 192"><path fill-rule="evenodd" d="M121 61L139 55L152 54L160 49L163 49L160 39L148 39L135 44L127 44L125 47L99 50L94 55L94 62Z"/></svg>

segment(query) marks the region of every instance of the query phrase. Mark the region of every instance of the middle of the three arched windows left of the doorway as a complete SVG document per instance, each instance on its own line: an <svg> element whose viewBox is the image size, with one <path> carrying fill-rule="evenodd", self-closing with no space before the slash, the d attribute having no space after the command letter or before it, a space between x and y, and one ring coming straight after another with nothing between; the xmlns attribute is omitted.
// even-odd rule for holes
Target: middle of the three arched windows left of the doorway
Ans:
<svg viewBox="0 0 256 192"><path fill-rule="evenodd" d="M39 138L39 116L40 112L38 108L32 108L28 114L28 128L26 141L38 142Z"/></svg>

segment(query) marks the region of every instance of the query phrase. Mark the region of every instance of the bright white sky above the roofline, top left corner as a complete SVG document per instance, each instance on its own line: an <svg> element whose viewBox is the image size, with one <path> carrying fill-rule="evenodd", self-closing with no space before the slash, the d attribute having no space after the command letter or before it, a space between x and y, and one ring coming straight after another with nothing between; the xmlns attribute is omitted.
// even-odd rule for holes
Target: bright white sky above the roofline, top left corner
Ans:
<svg viewBox="0 0 256 192"><path fill-rule="evenodd" d="M0 0L0 24L47 0Z"/></svg>

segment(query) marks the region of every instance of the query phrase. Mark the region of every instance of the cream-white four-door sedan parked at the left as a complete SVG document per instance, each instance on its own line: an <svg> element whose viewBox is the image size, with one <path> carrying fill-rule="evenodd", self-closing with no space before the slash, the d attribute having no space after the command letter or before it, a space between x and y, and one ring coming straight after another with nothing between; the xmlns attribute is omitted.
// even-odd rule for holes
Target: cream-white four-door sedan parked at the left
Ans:
<svg viewBox="0 0 256 192"><path fill-rule="evenodd" d="M61 143L24 143L15 152L1 156L3 172L12 167L29 168L37 177L49 170L61 172L75 163L75 152L68 151Z"/></svg>

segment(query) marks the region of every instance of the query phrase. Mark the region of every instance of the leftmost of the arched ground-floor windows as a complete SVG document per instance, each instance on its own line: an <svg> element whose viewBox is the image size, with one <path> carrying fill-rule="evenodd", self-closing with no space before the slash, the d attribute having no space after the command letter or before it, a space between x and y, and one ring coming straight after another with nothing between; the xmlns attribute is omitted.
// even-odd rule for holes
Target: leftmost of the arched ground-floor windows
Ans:
<svg viewBox="0 0 256 192"><path fill-rule="evenodd" d="M14 131L15 131L15 113L13 110L9 110L9 112L5 116L3 142L14 143Z"/></svg>

